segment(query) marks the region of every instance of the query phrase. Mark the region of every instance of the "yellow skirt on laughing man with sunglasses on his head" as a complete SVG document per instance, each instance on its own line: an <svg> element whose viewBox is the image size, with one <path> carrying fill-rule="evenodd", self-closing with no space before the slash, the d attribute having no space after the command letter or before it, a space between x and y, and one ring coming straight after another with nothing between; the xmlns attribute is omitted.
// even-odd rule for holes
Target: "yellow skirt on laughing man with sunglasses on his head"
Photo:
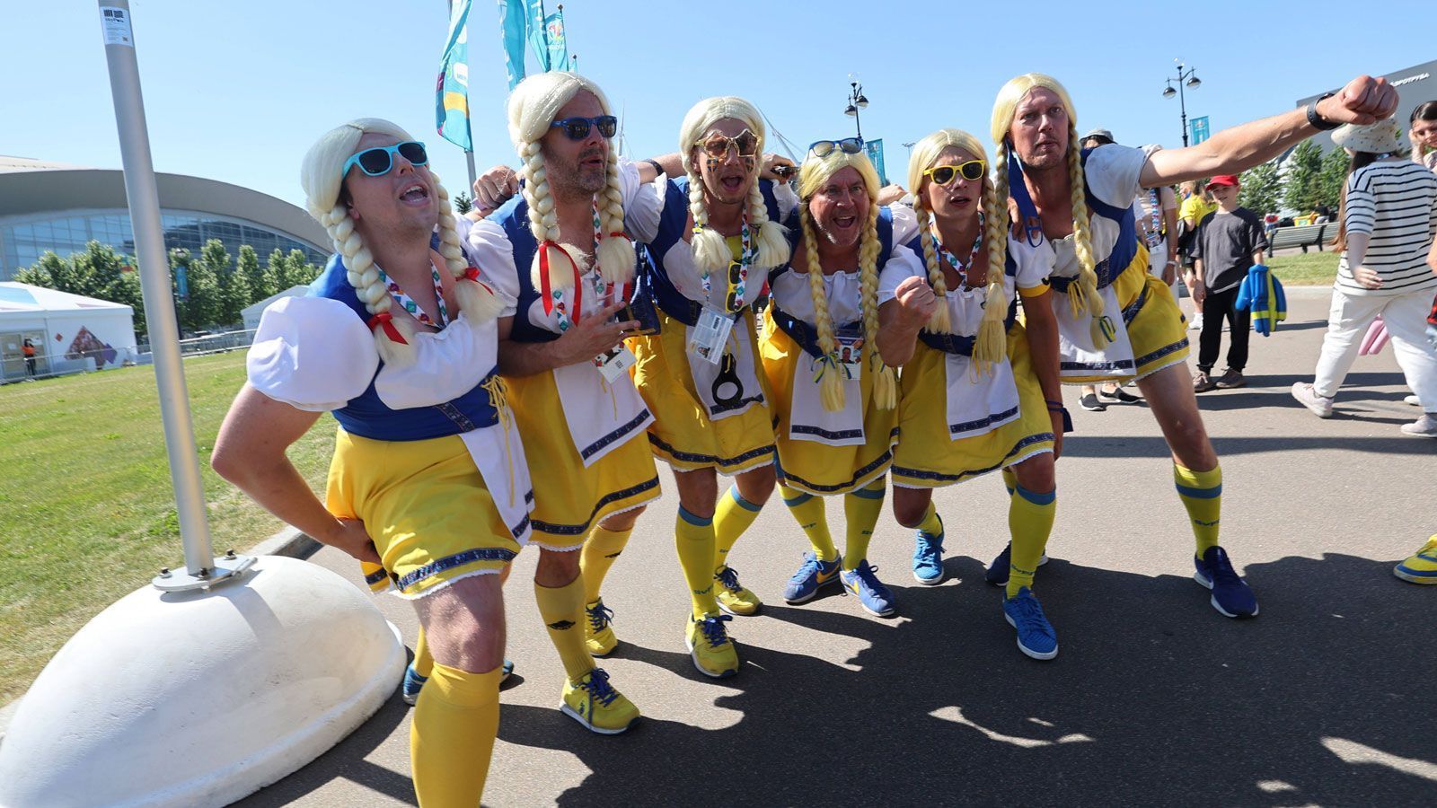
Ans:
<svg viewBox="0 0 1437 808"><path fill-rule="evenodd" d="M773 391L775 444L779 451L779 482L800 492L832 496L858 490L882 477L892 464L892 447L898 443L898 410L881 410L874 403L874 382L868 355L864 354L864 374L859 388L864 395L862 446L831 446L789 437L789 411L793 405L793 372L810 357L773 322L772 308L764 313L759 358Z"/></svg>

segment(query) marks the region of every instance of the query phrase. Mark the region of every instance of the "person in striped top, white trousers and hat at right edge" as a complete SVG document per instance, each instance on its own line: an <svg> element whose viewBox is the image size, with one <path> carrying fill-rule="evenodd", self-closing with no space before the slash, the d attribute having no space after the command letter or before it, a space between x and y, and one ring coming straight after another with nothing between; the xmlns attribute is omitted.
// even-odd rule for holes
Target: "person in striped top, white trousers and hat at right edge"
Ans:
<svg viewBox="0 0 1437 808"><path fill-rule="evenodd" d="M1382 315L1397 364L1423 407L1403 433L1437 437L1437 348L1427 339L1437 290L1437 174L1405 158L1391 118L1345 125L1332 132L1332 142L1352 155L1334 242L1342 259L1316 378L1293 384L1292 397L1319 418L1331 417L1359 335Z"/></svg>

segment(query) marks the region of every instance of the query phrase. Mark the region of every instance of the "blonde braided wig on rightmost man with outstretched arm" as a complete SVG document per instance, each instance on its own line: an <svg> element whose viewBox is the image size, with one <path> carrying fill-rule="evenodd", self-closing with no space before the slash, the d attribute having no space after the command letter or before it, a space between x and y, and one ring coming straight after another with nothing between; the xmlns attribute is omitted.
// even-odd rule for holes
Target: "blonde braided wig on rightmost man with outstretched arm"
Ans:
<svg viewBox="0 0 1437 808"><path fill-rule="evenodd" d="M1102 298L1098 296L1096 262L1092 257L1092 231L1089 230L1088 198L1083 194L1086 187L1082 173L1082 154L1078 141L1078 112L1073 99L1068 95L1058 79L1043 73L1023 73L1009 79L1003 89L997 91L997 101L993 102L993 144L997 147L997 194L1006 200L1009 194L1007 158L1013 148L1009 129L1013 127L1013 115L1017 105L1035 89L1050 91L1068 111L1068 184L1072 193L1073 207L1073 252L1078 256L1078 277L1068 288L1068 305L1075 315L1086 311L1092 316L1091 336L1095 346L1106 345L1112 335L1104 328L1108 319L1102 312Z"/></svg>

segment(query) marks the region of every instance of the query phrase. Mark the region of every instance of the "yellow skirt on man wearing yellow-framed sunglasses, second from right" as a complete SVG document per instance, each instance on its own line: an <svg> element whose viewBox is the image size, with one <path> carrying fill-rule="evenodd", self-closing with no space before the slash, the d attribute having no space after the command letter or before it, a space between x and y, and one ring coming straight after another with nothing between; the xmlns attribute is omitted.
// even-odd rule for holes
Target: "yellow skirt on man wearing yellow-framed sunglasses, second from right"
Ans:
<svg viewBox="0 0 1437 808"><path fill-rule="evenodd" d="M1019 417L996 430L948 439L943 381L944 354L923 342L904 365L898 384L898 447L894 449L894 485L935 489L1016 466L1053 450L1053 423L1043 388L1033 372L1027 332L1015 323L1007 332L1007 359L1017 382Z"/></svg>

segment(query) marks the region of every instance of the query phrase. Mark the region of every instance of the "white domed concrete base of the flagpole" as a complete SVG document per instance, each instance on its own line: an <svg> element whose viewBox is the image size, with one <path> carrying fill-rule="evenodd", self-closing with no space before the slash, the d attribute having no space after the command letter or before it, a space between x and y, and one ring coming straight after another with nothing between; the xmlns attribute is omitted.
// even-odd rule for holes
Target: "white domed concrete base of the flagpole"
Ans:
<svg viewBox="0 0 1437 808"><path fill-rule="evenodd" d="M354 732L404 664L369 595L303 561L144 587L36 677L0 745L0 805L227 805Z"/></svg>

